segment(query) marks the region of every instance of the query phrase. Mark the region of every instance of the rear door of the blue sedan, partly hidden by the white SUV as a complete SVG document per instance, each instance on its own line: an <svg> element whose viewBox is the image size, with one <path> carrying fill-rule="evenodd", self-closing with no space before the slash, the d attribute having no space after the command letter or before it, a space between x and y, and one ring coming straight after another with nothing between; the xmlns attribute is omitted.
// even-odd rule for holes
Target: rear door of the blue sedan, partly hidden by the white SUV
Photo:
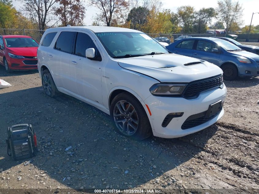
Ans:
<svg viewBox="0 0 259 194"><path fill-rule="evenodd" d="M194 42L195 40L180 40L175 46L173 53L192 57Z"/></svg>

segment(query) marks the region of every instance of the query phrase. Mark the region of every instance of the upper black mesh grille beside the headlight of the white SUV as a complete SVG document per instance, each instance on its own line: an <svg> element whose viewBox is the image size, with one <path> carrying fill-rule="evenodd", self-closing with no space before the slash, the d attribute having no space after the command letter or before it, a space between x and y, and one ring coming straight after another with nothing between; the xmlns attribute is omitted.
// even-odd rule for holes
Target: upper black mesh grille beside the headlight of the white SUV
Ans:
<svg viewBox="0 0 259 194"><path fill-rule="evenodd" d="M222 75L215 77L215 78L210 78L210 79L206 79L206 80L202 80L202 81L198 81L198 82L193 82L193 83L190 83L186 87L183 96L185 98L198 97L199 93L206 91L208 89L211 89L211 88L215 88L217 86L221 86L222 83L223 83Z"/></svg>

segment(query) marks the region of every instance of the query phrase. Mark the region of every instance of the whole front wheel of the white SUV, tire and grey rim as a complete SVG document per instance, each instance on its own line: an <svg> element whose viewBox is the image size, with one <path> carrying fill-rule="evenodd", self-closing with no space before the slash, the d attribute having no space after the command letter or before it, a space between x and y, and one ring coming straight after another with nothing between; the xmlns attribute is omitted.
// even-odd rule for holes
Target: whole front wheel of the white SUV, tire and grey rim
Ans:
<svg viewBox="0 0 259 194"><path fill-rule="evenodd" d="M120 93L112 100L110 115L115 124L115 131L121 135L143 140L152 134L146 111L130 93Z"/></svg>

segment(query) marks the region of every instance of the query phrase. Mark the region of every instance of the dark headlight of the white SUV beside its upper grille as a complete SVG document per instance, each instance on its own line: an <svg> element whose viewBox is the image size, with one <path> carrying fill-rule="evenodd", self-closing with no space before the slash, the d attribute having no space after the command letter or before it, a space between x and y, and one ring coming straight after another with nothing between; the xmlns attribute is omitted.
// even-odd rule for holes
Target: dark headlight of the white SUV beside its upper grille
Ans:
<svg viewBox="0 0 259 194"><path fill-rule="evenodd" d="M159 83L150 87L153 95L181 95L187 84Z"/></svg>

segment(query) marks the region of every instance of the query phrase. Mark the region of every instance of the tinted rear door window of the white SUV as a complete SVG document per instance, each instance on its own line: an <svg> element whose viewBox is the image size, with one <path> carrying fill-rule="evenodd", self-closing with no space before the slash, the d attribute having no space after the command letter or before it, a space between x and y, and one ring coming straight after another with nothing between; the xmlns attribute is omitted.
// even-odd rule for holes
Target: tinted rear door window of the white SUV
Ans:
<svg viewBox="0 0 259 194"><path fill-rule="evenodd" d="M55 44L55 49L71 53L72 44L75 32L63 31L59 34L59 37Z"/></svg>

